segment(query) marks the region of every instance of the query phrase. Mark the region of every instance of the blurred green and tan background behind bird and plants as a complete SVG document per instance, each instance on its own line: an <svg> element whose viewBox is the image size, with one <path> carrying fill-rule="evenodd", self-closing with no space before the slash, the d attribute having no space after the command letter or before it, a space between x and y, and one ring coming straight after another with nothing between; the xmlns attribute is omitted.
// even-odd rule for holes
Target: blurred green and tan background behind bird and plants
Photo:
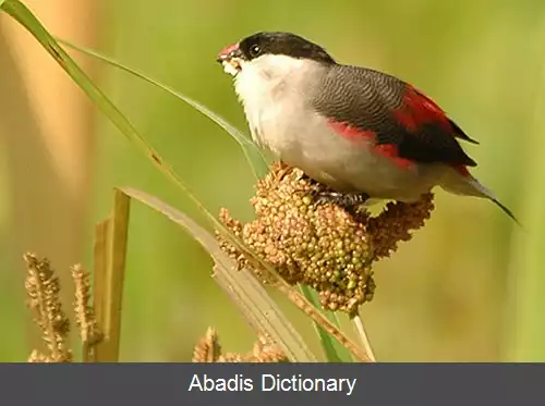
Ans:
<svg viewBox="0 0 545 406"><path fill-rule="evenodd" d="M428 225L376 267L376 297L362 311L377 357L545 360L543 1L26 3L53 34L144 71L245 132L215 56L257 30L298 33L342 62L422 88L481 142L465 145L480 163L474 174L526 232L487 201L438 190ZM227 207L251 219L252 175L227 133L142 81L73 56L210 211ZM50 258L70 300L69 266L92 268L94 224L108 216L114 186L195 212L34 39L0 15L0 361L24 361L35 340L23 253ZM208 325L227 350L250 349L254 335L211 280L206 253L142 206L131 216L122 360L189 360ZM282 306L318 350L311 324Z"/></svg>

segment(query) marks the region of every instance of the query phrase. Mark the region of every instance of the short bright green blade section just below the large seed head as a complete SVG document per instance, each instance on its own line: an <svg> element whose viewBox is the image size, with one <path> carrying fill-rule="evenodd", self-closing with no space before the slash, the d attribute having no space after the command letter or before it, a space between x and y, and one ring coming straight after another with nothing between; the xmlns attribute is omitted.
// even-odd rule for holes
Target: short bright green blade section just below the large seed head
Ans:
<svg viewBox="0 0 545 406"><path fill-rule="evenodd" d="M316 309L320 308L318 294L308 286L300 285L299 290ZM340 327L339 318L331 311L322 311L327 319L337 328ZM319 337L322 348L328 362L352 362L350 352L336 339L329 335L318 323L314 322L314 330Z"/></svg>

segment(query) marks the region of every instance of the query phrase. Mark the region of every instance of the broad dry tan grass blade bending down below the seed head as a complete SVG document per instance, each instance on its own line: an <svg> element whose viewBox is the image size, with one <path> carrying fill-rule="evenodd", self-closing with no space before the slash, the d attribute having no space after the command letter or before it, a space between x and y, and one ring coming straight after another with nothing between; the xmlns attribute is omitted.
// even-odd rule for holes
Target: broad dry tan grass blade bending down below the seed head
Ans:
<svg viewBox="0 0 545 406"><path fill-rule="evenodd" d="M237 263L221 250L210 233L201 227L189 216L154 196L133 188L123 188L119 193L158 211L192 234L214 258L217 271L215 279L239 305L242 313L257 332L264 332L270 336L292 361L310 362L316 360L301 335L286 319L263 286L247 270L237 270Z"/></svg>

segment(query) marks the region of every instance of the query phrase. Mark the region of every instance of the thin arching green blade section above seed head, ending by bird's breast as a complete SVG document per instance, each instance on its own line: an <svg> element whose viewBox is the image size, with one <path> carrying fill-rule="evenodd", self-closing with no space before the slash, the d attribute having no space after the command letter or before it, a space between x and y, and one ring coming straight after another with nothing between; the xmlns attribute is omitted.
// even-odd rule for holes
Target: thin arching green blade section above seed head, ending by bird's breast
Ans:
<svg viewBox="0 0 545 406"><path fill-rule="evenodd" d="M229 133L234 138L234 140L242 148L242 151L244 152L244 156L246 157L246 160L247 160L250 167L252 168L252 171L253 171L254 176L256 179L261 179L267 174L267 170L268 170L267 160L263 156L261 149L251 139L249 139L244 134L242 134L242 132L239 131L235 126L230 124L228 121L226 121L223 118L221 118L220 115L218 115L217 113L215 113L214 111L208 109L207 107L205 107L202 103L199 103L198 101L193 100L192 98L183 95L182 93L173 89L172 87L165 85L165 84L160 83L159 81L154 79L154 78L149 77L148 75L146 75L146 74L144 74L135 69L129 67L129 66L122 64L121 62L113 60L110 57L106 57L97 51L94 51L94 50L88 49L88 48L80 47L77 45L74 45L72 42L65 41L65 40L60 39L60 38L58 38L57 40L59 42L65 45L66 47L75 49L78 52L82 52L88 57L96 58L102 62L108 63L111 66L114 66L114 67L118 67L122 71L125 71L125 72L130 73L131 75L136 76L136 77L158 87L159 89L169 93L170 95L177 97L178 99L184 101L185 103L190 104L195 110L197 110L198 112L204 114L206 118L210 119L213 122L218 124L221 128L223 128L227 133Z"/></svg>

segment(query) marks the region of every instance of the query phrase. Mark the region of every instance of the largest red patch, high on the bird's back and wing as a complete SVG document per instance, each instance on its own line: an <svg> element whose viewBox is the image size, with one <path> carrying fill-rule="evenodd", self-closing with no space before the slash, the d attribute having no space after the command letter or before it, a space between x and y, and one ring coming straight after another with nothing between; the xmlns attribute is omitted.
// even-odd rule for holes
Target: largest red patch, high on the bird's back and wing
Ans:
<svg viewBox="0 0 545 406"><path fill-rule="evenodd" d="M422 124L436 123L445 131L452 132L452 126L439 106L416 88L407 85L403 106L393 111L396 119L411 133Z"/></svg>

